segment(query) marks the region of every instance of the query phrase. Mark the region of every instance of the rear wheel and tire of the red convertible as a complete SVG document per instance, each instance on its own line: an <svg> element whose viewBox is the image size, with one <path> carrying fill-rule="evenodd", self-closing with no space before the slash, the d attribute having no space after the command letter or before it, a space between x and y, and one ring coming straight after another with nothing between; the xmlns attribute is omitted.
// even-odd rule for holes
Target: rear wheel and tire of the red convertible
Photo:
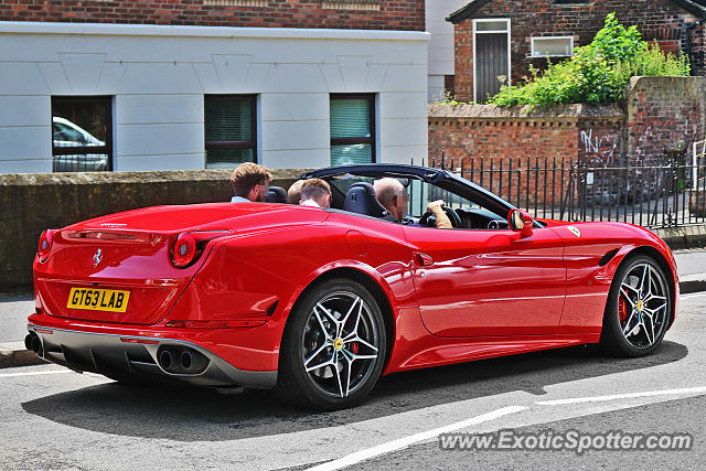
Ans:
<svg viewBox="0 0 706 471"><path fill-rule="evenodd" d="M323 281L290 314L275 393L308 408L354 406L375 386L386 345L383 314L371 292L347 279Z"/></svg>

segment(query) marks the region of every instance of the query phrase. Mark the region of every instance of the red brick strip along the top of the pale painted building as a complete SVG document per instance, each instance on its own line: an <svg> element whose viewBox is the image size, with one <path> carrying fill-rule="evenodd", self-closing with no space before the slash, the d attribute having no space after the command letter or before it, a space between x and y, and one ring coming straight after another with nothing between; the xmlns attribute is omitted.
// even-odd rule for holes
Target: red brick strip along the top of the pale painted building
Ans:
<svg viewBox="0 0 706 471"><path fill-rule="evenodd" d="M424 0L0 0L0 21L424 31Z"/></svg>

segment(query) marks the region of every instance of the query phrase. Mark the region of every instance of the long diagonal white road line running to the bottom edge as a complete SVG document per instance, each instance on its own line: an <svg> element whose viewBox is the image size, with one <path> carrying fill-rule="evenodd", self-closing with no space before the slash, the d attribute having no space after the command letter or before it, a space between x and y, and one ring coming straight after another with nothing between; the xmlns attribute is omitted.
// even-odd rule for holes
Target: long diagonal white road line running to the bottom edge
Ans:
<svg viewBox="0 0 706 471"><path fill-rule="evenodd" d="M319 464L313 468L309 468L309 470L315 471L329 471L329 470L338 470L341 468L350 467L361 461L370 460L371 458L378 457L381 454L387 454L393 451L400 450L403 448L407 448L410 445L417 443L419 441L430 440L441 433L449 433L456 430L460 430L470 426L474 426L478 424L482 424L489 420L495 420L500 417L520 413L528 409L528 407L524 406L511 406L503 407L502 409L493 410L492 413L483 414L468 420L461 420L460 422L451 424L445 427L435 428L432 430L422 431L420 433L410 435L409 437L404 437L397 440L389 441L387 443L382 443L376 447L368 448L366 450L362 450L355 453L351 453L346 457L339 458L338 460L329 461L322 464Z"/></svg>

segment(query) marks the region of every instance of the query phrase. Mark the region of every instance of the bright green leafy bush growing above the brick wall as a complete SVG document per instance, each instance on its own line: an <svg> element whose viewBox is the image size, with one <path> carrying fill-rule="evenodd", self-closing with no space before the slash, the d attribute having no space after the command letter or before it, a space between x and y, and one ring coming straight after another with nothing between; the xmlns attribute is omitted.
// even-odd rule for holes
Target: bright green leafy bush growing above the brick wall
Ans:
<svg viewBox="0 0 706 471"><path fill-rule="evenodd" d="M687 57L664 54L656 43L643 41L635 26L625 29L610 13L593 41L577 47L571 58L549 64L542 75L532 69L532 77L524 84L503 86L489 103L499 106L616 103L632 76L689 72Z"/></svg>

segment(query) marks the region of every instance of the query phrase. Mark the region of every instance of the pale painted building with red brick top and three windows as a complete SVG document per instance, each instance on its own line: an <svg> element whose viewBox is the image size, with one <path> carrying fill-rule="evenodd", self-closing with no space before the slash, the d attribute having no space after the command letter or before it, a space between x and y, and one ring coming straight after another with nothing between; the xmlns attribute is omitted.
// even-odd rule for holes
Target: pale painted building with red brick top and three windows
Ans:
<svg viewBox="0 0 706 471"><path fill-rule="evenodd" d="M0 173L427 156L422 0L0 0Z"/></svg>

